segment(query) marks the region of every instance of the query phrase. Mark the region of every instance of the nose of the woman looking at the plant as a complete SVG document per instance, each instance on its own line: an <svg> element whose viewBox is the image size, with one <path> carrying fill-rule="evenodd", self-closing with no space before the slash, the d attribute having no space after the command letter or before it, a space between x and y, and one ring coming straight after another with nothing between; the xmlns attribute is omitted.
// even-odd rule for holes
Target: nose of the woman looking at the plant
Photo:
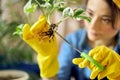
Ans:
<svg viewBox="0 0 120 80"><path fill-rule="evenodd" d="M99 18L97 17L92 18L89 26L93 30L99 30L101 26Z"/></svg>

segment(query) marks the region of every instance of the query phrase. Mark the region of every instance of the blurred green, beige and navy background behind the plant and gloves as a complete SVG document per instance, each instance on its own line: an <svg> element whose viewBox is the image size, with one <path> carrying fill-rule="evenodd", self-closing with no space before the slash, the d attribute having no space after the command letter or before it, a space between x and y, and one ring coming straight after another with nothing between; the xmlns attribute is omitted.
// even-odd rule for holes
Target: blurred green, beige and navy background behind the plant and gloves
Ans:
<svg viewBox="0 0 120 80"><path fill-rule="evenodd" d="M33 51L19 36L13 35L17 25L27 23L27 17L23 7L28 0L0 0L0 71L1 70L22 70L30 76L29 80L39 80L39 68L36 62L36 52ZM85 0L66 0L67 5L72 8L84 8ZM34 13L34 20L37 20L40 11ZM53 22L60 18L55 12ZM32 21L32 18L30 19ZM34 23L34 21L33 21ZM62 36L83 27L82 21L67 19L59 25L58 32ZM62 39L58 38L59 48Z"/></svg>

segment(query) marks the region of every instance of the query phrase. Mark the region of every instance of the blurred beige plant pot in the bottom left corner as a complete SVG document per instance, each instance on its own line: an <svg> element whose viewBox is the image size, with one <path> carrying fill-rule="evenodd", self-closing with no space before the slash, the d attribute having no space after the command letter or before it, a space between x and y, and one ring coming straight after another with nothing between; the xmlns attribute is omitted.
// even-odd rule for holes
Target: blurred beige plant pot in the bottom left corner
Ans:
<svg viewBox="0 0 120 80"><path fill-rule="evenodd" d="M28 80L28 73L21 70L0 70L0 80Z"/></svg>

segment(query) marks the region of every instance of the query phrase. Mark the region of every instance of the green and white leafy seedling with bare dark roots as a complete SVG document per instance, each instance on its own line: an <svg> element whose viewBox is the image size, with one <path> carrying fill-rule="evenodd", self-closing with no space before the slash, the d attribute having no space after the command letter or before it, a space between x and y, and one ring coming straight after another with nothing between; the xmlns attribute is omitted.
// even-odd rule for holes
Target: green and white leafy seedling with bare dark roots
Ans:
<svg viewBox="0 0 120 80"><path fill-rule="evenodd" d="M84 14L85 11L82 8L77 8L73 10L71 7L66 6L65 0L42 0L41 2L38 0L35 0L34 2L32 0L29 0L24 6L24 13L27 15L27 17L29 17L30 14L33 14L35 12L36 8L40 9L41 13L47 18L47 22L50 25L50 27L48 31L43 32L42 34L43 36L48 36L50 39L52 36L54 36L53 33L57 30L59 24L68 18L76 20L85 19L90 22L90 18ZM57 23L52 23L51 18L55 11L59 11L62 14L62 16ZM18 34L21 36L21 32L22 29L19 28L18 30L17 28L14 34Z"/></svg>

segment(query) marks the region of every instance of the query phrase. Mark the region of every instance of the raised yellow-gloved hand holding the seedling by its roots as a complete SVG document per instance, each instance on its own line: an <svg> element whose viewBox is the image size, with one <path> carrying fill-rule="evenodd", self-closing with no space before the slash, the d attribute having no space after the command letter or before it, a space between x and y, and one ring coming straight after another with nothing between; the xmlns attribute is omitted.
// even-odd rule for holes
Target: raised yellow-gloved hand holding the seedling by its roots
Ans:
<svg viewBox="0 0 120 80"><path fill-rule="evenodd" d="M30 27L25 24L23 27L23 40L33 48L37 54L37 61L42 78L50 78L57 74L58 65L58 44L55 37L50 39L46 31L50 28L44 15L41 15L38 21Z"/></svg>

